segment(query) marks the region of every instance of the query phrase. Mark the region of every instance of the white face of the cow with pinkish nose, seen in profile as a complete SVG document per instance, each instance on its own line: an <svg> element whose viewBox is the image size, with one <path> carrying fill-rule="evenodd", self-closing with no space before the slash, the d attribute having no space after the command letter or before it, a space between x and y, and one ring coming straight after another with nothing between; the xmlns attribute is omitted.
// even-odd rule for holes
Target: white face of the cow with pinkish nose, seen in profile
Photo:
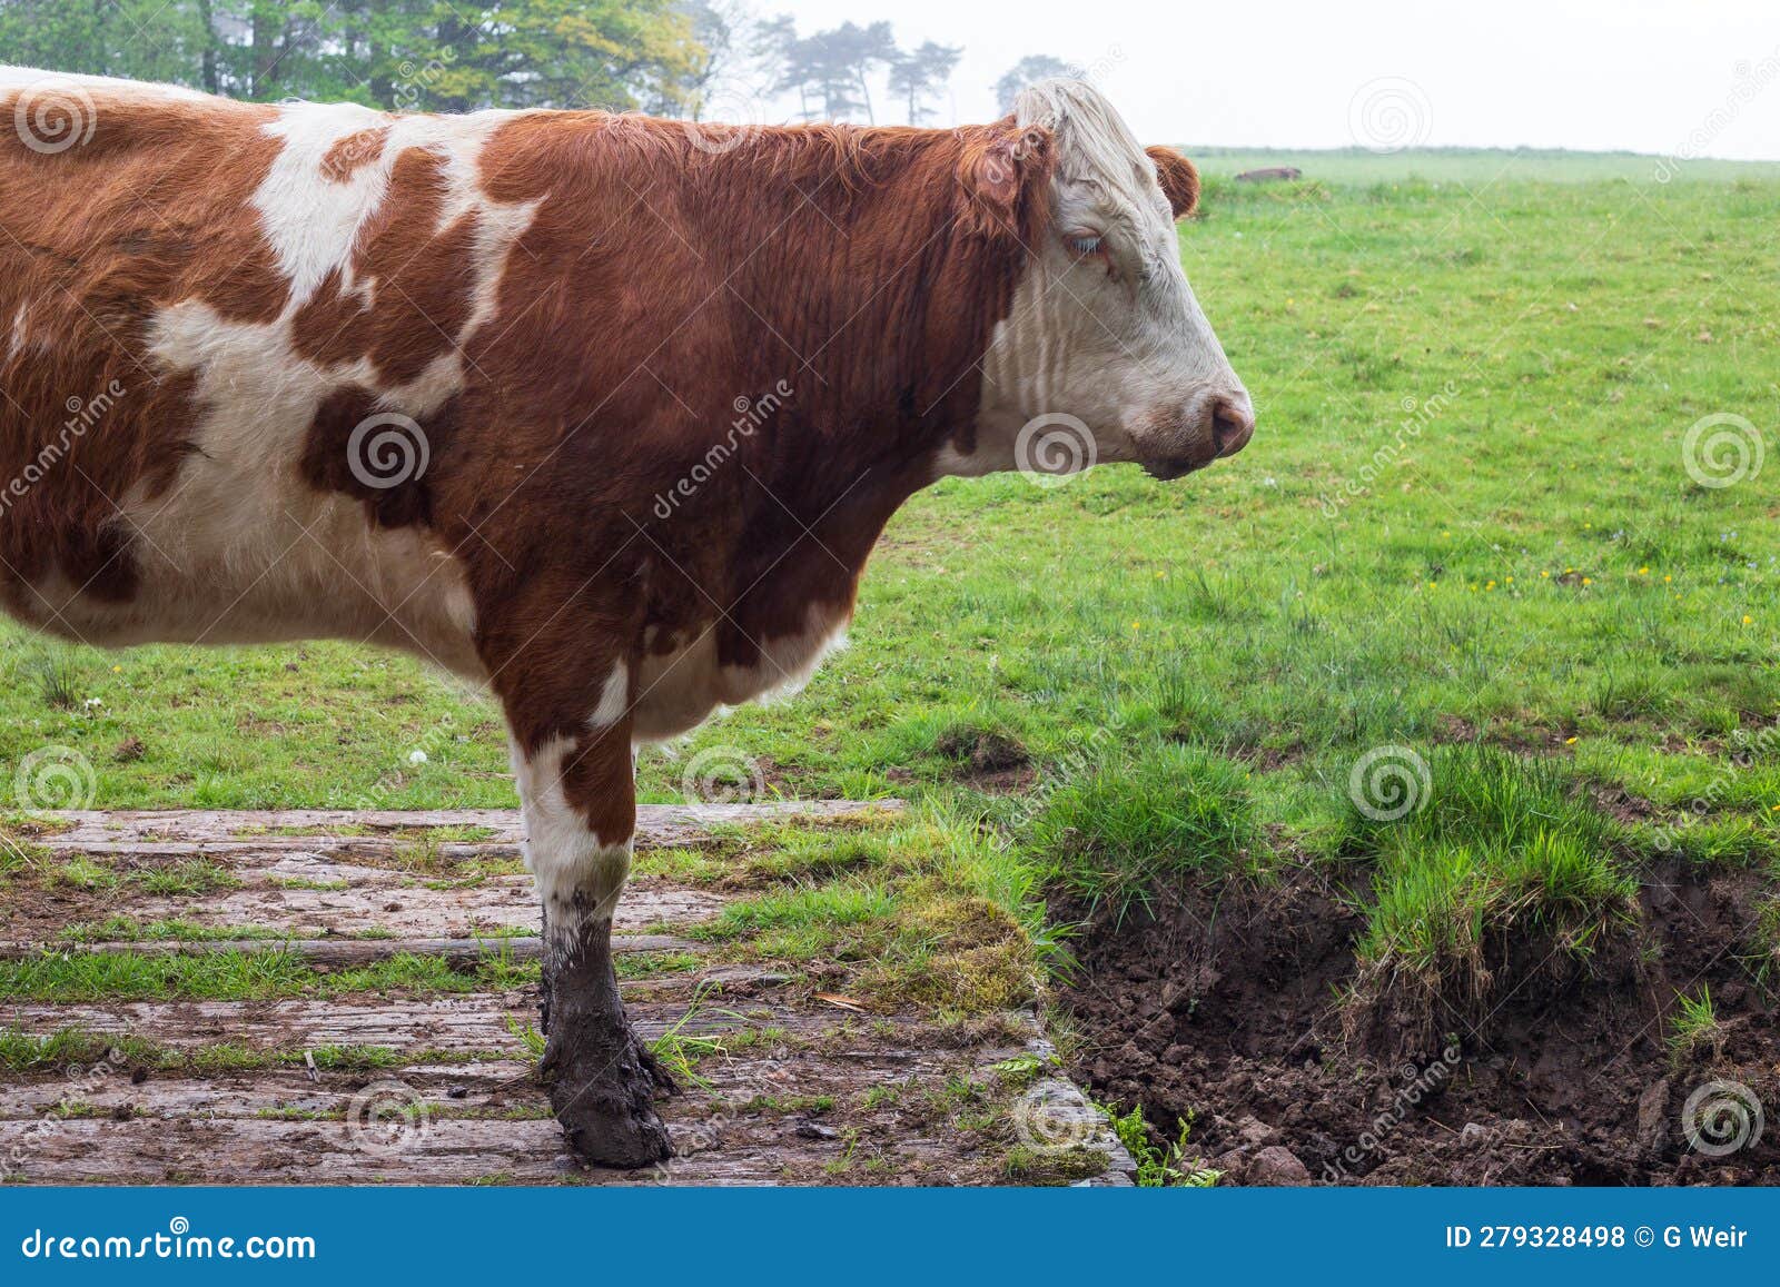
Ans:
<svg viewBox="0 0 1780 1287"><path fill-rule="evenodd" d="M1054 135L1050 233L984 356L975 450L942 470L1136 461L1173 479L1235 454L1255 411L1180 267L1155 162L1086 82L1034 85L1016 114Z"/></svg>

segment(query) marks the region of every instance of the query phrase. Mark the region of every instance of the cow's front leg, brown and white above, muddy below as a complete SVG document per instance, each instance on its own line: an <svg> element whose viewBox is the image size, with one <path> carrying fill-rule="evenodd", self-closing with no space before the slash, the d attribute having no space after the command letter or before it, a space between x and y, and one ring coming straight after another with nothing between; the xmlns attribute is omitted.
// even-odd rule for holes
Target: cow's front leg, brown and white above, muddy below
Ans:
<svg viewBox="0 0 1780 1287"><path fill-rule="evenodd" d="M516 728L513 757L525 862L543 904L550 1105L580 1157L630 1168L671 1150L655 1113L655 1061L625 1018L612 970L612 913L630 874L635 789L630 721L598 717L605 714L616 716L616 703L577 721L575 732L527 739Z"/></svg>

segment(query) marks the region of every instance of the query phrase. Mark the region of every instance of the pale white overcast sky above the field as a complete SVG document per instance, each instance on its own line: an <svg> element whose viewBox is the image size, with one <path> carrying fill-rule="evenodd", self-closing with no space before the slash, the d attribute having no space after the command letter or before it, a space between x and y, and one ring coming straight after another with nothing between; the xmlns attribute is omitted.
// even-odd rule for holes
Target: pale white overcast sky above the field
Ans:
<svg viewBox="0 0 1780 1287"><path fill-rule="evenodd" d="M963 45L956 121L990 119L990 85L1050 53L1095 68L1153 142L1780 160L1780 0L755 2L803 34L885 18L904 48Z"/></svg>

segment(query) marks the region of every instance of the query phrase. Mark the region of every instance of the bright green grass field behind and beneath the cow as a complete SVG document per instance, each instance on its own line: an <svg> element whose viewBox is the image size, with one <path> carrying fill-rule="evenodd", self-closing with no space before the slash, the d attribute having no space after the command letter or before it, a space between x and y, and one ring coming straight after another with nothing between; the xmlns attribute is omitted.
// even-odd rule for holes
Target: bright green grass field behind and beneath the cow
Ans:
<svg viewBox="0 0 1780 1287"><path fill-rule="evenodd" d="M933 853L986 819L1011 844L942 885L1034 938L1047 888L1362 856L1362 961L1429 986L1479 920L1586 951L1664 854L1773 870L1780 461L1705 486L1684 438L1728 415L1780 449L1780 176L1504 157L1305 158L1267 187L1226 174L1278 153L1207 158L1182 255L1250 449L1171 486L933 488L851 650L646 751L644 797L735 748L785 794L918 801ZM85 757L100 808L514 803L490 703L331 643L114 657L7 627L7 780L44 746ZM1380 764L1417 796L1401 828L1355 803ZM894 922L915 860L883 863L728 929Z"/></svg>

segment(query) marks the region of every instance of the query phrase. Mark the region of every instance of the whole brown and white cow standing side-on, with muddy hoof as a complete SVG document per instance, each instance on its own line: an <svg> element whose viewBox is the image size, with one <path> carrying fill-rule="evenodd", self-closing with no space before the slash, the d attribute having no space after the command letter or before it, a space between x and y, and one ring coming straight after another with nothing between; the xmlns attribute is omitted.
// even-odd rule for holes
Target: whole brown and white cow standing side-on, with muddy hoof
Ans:
<svg viewBox="0 0 1780 1287"><path fill-rule="evenodd" d="M7 69L0 135L0 602L486 684L598 1162L668 1153L609 943L632 748L805 678L897 506L1032 425L1159 477L1253 427L1180 269L1193 166L1080 82L744 130Z"/></svg>

